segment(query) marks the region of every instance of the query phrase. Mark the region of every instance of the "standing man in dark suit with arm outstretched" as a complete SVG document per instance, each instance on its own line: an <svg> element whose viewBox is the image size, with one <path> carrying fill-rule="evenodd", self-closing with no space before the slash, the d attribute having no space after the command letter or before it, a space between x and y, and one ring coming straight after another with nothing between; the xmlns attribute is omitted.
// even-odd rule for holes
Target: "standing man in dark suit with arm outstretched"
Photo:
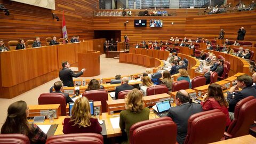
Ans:
<svg viewBox="0 0 256 144"><path fill-rule="evenodd" d="M59 77L65 86L72 87L72 86L74 86L73 77L79 77L79 76L83 75L83 73L86 69L83 68L81 71L79 71L77 74L75 74L74 71L72 71L69 68L70 68L69 62L63 61L62 69L60 70Z"/></svg>

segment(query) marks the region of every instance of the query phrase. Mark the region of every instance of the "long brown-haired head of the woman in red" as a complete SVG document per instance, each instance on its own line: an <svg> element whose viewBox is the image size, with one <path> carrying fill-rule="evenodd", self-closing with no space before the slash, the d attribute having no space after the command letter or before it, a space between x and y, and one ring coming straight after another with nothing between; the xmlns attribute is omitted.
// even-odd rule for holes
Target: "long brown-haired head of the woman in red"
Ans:
<svg viewBox="0 0 256 144"><path fill-rule="evenodd" d="M220 106L228 107L228 102L224 98L221 85L219 84L210 84L208 87L208 96L207 98L214 98Z"/></svg>

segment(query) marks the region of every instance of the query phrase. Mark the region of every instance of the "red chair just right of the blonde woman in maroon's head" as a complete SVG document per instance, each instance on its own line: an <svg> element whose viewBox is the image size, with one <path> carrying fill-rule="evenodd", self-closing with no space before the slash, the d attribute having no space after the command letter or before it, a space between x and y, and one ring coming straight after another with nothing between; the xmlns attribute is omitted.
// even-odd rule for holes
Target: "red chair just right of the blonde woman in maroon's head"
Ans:
<svg viewBox="0 0 256 144"><path fill-rule="evenodd" d="M106 90L85 91L83 97L86 97L88 100L101 101L102 113L107 112L108 92Z"/></svg>

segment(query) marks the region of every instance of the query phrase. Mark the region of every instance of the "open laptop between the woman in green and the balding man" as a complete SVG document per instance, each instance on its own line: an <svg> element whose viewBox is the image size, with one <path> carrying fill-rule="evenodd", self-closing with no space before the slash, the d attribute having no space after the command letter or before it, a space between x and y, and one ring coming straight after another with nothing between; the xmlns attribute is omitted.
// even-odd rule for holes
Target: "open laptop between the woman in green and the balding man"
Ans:
<svg viewBox="0 0 256 144"><path fill-rule="evenodd" d="M171 104L169 100L164 100L156 103L156 108L158 115L160 117L164 117L168 114L169 108L171 108Z"/></svg>

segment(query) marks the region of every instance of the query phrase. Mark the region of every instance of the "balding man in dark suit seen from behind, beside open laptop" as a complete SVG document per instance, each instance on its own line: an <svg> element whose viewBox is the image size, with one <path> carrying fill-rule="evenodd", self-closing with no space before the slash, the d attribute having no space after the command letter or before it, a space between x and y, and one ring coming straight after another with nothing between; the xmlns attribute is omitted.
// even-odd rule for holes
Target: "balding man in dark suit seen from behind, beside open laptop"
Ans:
<svg viewBox="0 0 256 144"><path fill-rule="evenodd" d="M177 124L177 142L183 143L187 137L188 118L203 111L198 103L189 103L189 94L185 90L180 90L175 95L176 107L171 107L167 116Z"/></svg>

